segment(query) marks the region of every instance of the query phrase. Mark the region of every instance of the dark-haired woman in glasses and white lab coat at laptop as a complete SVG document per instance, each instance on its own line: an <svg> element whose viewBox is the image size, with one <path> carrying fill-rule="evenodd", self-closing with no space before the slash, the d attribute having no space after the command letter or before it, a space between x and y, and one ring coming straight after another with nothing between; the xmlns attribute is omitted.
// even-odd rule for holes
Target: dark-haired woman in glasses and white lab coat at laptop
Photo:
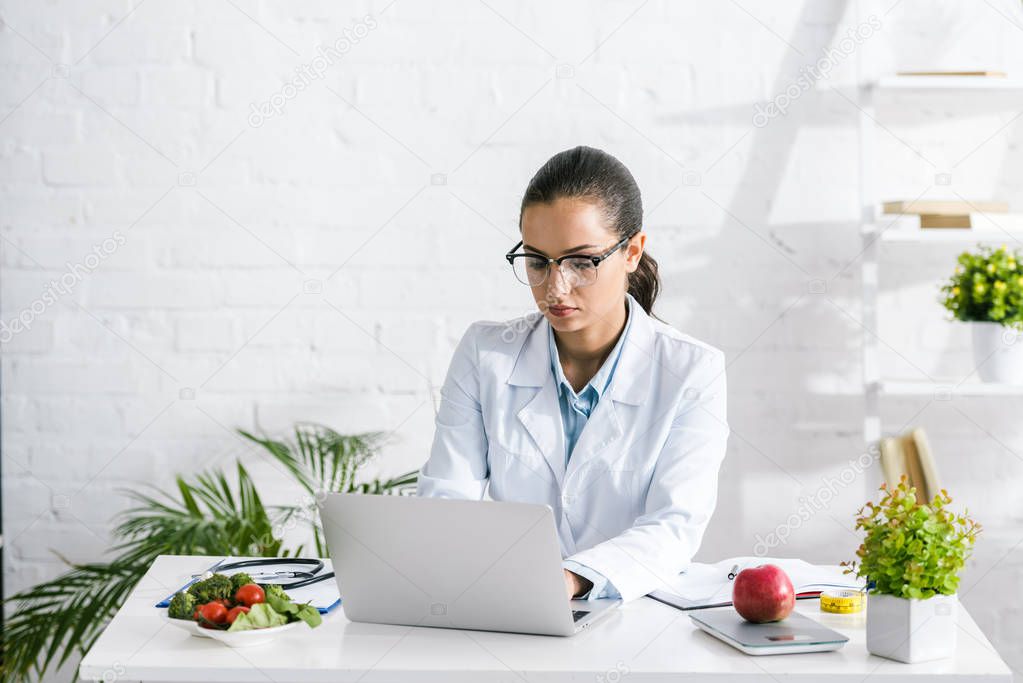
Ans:
<svg viewBox="0 0 1023 683"><path fill-rule="evenodd" d="M618 160L551 157L505 258L540 314L473 323L418 495L546 503L570 597L662 588L700 546L724 457L724 355L655 319L657 263ZM522 251L516 253L522 246Z"/></svg>

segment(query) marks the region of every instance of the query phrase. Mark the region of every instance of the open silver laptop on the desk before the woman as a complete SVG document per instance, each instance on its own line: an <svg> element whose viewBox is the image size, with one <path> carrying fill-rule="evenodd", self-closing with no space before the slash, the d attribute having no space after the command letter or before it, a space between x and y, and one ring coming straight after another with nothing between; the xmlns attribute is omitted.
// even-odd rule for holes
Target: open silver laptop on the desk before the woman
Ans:
<svg viewBox="0 0 1023 683"><path fill-rule="evenodd" d="M570 600L550 506L331 494L320 518L353 622L571 636L621 600Z"/></svg>

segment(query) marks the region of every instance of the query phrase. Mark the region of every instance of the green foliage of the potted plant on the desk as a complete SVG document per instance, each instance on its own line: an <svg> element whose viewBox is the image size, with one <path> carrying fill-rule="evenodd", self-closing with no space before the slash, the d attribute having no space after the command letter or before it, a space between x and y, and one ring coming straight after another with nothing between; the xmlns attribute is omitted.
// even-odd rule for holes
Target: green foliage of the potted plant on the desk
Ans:
<svg viewBox="0 0 1023 683"><path fill-rule="evenodd" d="M856 529L865 532L856 550L860 563L842 562L846 574L873 581L876 592L896 597L954 593L980 525L968 513L946 509L952 499L944 489L929 503L920 503L916 487L903 475L896 487L882 485L879 503L859 509Z"/></svg>

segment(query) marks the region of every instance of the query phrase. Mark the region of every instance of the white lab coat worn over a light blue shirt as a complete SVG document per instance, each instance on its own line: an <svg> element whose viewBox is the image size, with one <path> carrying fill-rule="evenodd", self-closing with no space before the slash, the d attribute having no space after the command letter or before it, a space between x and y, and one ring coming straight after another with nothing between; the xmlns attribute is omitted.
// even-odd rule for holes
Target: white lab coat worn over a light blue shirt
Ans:
<svg viewBox="0 0 1023 683"><path fill-rule="evenodd" d="M700 547L729 434L724 354L632 304L611 385L567 470L550 323L535 312L470 325L417 490L550 505L563 557L603 574L623 600L663 588Z"/></svg>

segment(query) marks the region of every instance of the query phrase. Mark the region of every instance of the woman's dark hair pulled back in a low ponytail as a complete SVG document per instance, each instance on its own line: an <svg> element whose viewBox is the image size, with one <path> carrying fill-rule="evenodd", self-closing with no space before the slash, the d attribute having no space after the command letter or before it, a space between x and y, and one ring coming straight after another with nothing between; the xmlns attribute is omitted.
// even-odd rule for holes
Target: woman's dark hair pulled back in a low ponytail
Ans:
<svg viewBox="0 0 1023 683"><path fill-rule="evenodd" d="M588 198L599 203L619 239L631 237L642 228L639 186L625 165L603 149L580 145L547 160L529 181L522 197L520 230L527 207L560 198ZM648 314L654 315L654 300L660 289L657 262L643 249L638 267L628 275L629 293Z"/></svg>

